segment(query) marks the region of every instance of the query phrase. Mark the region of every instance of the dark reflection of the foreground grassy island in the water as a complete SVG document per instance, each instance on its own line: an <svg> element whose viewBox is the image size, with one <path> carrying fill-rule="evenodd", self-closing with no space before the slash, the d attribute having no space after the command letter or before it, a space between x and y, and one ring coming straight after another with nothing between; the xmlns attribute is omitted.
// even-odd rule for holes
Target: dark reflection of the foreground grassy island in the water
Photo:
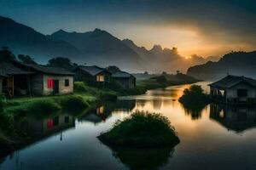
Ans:
<svg viewBox="0 0 256 170"><path fill-rule="evenodd" d="M154 170L164 167L172 158L173 148L125 149L111 148L113 156L131 170Z"/></svg>

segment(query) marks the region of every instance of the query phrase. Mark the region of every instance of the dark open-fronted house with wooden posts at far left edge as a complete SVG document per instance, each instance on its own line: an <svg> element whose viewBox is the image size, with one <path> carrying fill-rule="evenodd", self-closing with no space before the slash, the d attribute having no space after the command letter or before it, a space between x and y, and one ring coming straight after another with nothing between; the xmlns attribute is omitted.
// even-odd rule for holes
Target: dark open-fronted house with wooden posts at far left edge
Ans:
<svg viewBox="0 0 256 170"><path fill-rule="evenodd" d="M9 97L30 94L31 71L24 71L11 62L0 62L0 94Z"/></svg>

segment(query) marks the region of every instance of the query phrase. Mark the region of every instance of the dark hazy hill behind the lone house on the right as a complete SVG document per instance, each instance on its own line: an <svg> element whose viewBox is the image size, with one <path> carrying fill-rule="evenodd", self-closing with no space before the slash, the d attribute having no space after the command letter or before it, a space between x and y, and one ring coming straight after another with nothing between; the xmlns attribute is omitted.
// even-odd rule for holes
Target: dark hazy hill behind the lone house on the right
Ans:
<svg viewBox="0 0 256 170"><path fill-rule="evenodd" d="M218 62L190 67L187 74L201 80L215 80L227 74L255 78L255 71L256 51L253 51L225 54Z"/></svg>

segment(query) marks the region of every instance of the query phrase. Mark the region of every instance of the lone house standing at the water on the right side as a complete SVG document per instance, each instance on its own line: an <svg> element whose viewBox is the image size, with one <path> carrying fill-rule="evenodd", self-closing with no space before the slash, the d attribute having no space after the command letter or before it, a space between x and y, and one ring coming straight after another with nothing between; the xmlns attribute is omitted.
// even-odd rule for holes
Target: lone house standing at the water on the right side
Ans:
<svg viewBox="0 0 256 170"><path fill-rule="evenodd" d="M256 103L256 80L228 75L209 84L211 98L231 105Z"/></svg>

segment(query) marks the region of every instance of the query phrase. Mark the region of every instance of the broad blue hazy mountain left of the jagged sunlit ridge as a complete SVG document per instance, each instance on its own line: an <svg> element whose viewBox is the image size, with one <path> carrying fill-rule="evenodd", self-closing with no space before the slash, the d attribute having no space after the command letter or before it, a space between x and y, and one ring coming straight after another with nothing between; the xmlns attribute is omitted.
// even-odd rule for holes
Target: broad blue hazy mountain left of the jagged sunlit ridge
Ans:
<svg viewBox="0 0 256 170"><path fill-rule="evenodd" d="M118 65L126 70L142 71L143 59L130 47L107 31L96 29L84 33L56 31L49 38L71 43L87 57L85 62L101 66Z"/></svg>

